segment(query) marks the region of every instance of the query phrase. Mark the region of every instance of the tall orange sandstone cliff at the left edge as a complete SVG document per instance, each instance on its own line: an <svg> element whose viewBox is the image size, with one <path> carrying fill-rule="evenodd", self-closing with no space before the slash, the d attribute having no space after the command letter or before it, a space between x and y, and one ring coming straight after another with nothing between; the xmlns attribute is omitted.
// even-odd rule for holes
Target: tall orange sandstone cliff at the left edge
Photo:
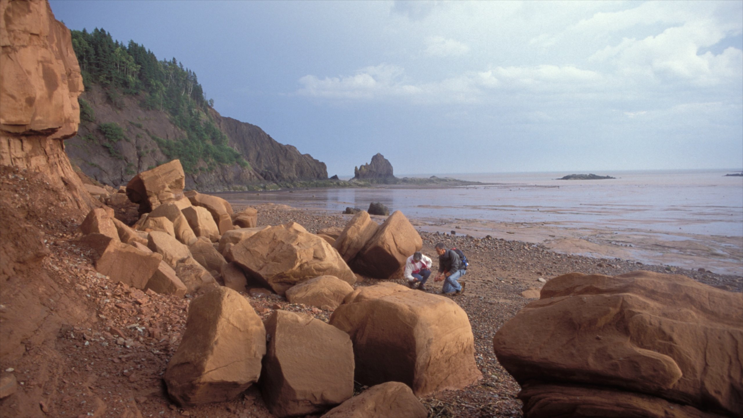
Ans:
<svg viewBox="0 0 743 418"><path fill-rule="evenodd" d="M0 165L44 173L66 204L96 205L62 140L77 133L82 92L70 31L46 1L0 1Z"/></svg>

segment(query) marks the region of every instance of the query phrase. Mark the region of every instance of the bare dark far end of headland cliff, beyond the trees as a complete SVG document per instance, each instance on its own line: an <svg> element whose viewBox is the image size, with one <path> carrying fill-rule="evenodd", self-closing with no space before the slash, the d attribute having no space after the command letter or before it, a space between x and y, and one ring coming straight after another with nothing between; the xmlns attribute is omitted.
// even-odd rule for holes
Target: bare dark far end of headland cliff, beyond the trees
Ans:
<svg viewBox="0 0 743 418"><path fill-rule="evenodd" d="M328 179L325 163L302 154L296 147L282 145L263 129L214 112L217 125L230 138L230 144L244 155L262 179L267 181Z"/></svg>

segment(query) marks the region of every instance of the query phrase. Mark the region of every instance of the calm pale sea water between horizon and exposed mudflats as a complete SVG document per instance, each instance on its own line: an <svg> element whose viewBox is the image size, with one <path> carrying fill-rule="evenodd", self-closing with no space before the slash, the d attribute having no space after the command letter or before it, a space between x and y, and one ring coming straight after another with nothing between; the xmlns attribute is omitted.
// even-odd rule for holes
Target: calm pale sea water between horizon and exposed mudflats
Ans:
<svg viewBox="0 0 743 418"><path fill-rule="evenodd" d="M447 189L358 188L220 193L236 204L273 202L342 211L382 202L409 218L546 222L564 227L743 237L743 177L734 170L601 172L607 180L556 180L561 173L450 174L487 185ZM428 177L431 174L421 175ZM444 175L437 175L443 177ZM416 176L418 177L418 176Z"/></svg>

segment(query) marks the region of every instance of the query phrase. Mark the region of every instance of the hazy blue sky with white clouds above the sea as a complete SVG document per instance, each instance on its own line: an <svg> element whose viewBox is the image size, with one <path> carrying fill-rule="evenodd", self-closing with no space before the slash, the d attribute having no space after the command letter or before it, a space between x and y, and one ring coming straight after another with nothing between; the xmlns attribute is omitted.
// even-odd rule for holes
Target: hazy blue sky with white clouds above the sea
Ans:
<svg viewBox="0 0 743 418"><path fill-rule="evenodd" d="M50 3L329 176L743 168L743 1Z"/></svg>

